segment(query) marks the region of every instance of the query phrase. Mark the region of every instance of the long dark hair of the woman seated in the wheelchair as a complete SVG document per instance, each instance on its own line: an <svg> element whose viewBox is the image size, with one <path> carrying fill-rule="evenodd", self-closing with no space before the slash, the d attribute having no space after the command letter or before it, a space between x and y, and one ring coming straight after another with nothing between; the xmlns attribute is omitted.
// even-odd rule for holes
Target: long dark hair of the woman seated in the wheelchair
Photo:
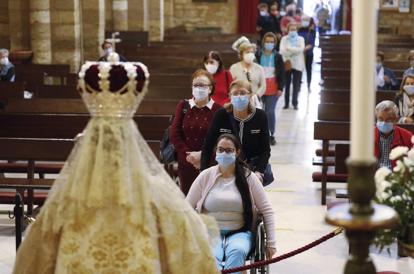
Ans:
<svg viewBox="0 0 414 274"><path fill-rule="evenodd" d="M217 147L218 143L223 139L233 142L234 148L236 148L236 150L241 149L240 142L238 141L236 136L234 136L233 134L230 134L230 133L221 134L219 136L219 138L217 138L216 147ZM250 230L250 228L252 228L252 222L253 222L253 212L252 212L252 207L253 206L252 206L252 200L250 199L249 185L247 183L247 178L251 174L251 169L250 169L250 166L247 165L246 162L243 161L240 154L236 158L235 163L236 163L236 170L235 170L235 173L236 173L236 187L238 189L238 192L240 192L241 201L243 203L244 225L243 225L242 228L240 228L238 230L234 230L234 231L231 231L231 232L227 233L226 237L229 237L230 235L233 235L233 234L236 234L236 233L239 233L239 232L246 232L246 231Z"/></svg>

